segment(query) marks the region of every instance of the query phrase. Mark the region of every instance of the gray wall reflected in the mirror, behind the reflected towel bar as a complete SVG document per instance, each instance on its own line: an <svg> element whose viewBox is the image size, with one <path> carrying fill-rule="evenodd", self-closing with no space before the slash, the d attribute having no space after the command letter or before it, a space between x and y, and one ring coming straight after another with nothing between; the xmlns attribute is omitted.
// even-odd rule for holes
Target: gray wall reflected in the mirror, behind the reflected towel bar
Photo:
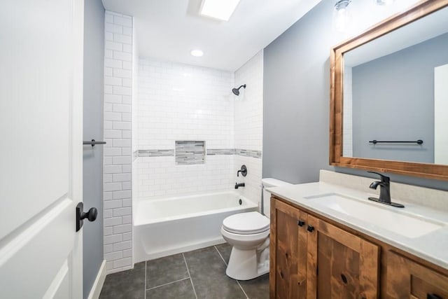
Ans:
<svg viewBox="0 0 448 299"><path fill-rule="evenodd" d="M447 49L442 34L353 67L353 157L434 162L434 67L448 63Z"/></svg>

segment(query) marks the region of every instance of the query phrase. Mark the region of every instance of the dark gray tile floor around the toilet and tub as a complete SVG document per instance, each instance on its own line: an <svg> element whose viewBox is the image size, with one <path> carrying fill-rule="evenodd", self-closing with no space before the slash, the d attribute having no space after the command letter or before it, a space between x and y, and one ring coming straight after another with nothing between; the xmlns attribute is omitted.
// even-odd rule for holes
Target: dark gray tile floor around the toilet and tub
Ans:
<svg viewBox="0 0 448 299"><path fill-rule="evenodd" d="M269 298L269 276L237 281L225 274L232 247L219 244L137 263L109 274L99 298Z"/></svg>

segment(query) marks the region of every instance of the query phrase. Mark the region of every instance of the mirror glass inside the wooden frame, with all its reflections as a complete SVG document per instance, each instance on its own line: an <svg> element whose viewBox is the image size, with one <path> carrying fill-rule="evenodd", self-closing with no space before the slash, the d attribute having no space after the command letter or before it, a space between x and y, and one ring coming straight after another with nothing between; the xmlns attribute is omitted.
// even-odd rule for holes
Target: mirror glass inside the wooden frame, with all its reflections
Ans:
<svg viewBox="0 0 448 299"><path fill-rule="evenodd" d="M343 76L344 157L448 165L448 8L344 53Z"/></svg>

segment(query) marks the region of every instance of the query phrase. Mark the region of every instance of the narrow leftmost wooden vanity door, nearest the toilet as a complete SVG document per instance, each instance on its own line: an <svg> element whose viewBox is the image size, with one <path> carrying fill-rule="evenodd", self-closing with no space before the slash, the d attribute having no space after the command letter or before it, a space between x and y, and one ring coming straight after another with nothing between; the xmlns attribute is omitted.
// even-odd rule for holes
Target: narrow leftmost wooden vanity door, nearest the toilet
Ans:
<svg viewBox="0 0 448 299"><path fill-rule="evenodd" d="M287 299L306 296L306 223L307 214L272 198L269 247L270 298Z"/></svg>

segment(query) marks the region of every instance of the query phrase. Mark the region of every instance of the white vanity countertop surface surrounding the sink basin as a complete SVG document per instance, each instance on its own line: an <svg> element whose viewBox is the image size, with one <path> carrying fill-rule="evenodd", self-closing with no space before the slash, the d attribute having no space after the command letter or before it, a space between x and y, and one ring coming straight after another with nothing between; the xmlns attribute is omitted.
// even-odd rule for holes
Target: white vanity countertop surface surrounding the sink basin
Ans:
<svg viewBox="0 0 448 299"><path fill-rule="evenodd" d="M316 214L330 218L338 223L358 230L379 239L387 244L402 249L409 253L419 256L425 260L428 260L435 265L440 265L448 270L448 213L446 211L437 211L430 207L424 207L423 205L415 204L412 202L404 202L402 200L395 200L392 196L393 202L399 202L405 204L404 209L389 207L386 204L372 202L367 200L367 197L377 197L374 193L365 193L360 190L354 190L351 188L344 188L330 183L317 182L317 183L304 183L298 185L290 185L283 187L267 188L269 192L279 197L288 200L293 204L297 204L300 207L314 211ZM381 206L381 208L388 209L395 213L407 214L417 218L428 219L429 221L435 221L442 223L444 226L433 232L429 232L421 237L409 238L403 235L381 228L374 223L360 220L351 215L344 214L335 209L325 207L323 204L319 204L318 200L310 200L305 197L312 197L316 195L337 193L340 195L346 195L348 197L355 198L367 204L374 204L375 206ZM366 207L368 209L368 206ZM381 218L378 219L381 221ZM406 230L409 228L396 228L395 230Z"/></svg>

